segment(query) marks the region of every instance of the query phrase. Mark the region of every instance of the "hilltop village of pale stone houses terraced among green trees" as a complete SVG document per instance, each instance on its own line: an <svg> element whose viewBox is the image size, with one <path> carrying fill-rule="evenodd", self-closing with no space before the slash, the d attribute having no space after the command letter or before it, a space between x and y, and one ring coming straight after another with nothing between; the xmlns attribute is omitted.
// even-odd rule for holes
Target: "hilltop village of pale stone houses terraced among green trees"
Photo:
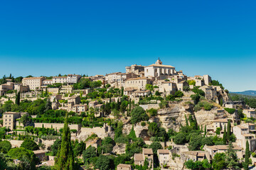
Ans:
<svg viewBox="0 0 256 170"><path fill-rule="evenodd" d="M125 71L3 77L0 169L61 169L65 142L74 169L255 164L255 108L219 81L188 77L161 60Z"/></svg>

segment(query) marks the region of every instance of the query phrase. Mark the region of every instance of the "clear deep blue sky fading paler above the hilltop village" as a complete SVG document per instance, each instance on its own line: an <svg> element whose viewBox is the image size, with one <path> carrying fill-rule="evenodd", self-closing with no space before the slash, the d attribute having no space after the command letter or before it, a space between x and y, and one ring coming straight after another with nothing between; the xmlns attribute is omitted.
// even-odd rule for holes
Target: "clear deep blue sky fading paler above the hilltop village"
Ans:
<svg viewBox="0 0 256 170"><path fill-rule="evenodd" d="M256 90L256 1L0 1L0 77L163 64Z"/></svg>

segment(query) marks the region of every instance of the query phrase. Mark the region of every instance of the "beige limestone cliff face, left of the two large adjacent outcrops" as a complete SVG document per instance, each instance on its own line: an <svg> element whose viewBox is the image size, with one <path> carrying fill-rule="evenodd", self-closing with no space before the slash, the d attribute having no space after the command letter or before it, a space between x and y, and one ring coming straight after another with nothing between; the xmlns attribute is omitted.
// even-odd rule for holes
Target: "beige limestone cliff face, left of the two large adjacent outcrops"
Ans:
<svg viewBox="0 0 256 170"><path fill-rule="evenodd" d="M173 129L178 132L181 125L186 125L185 115L188 118L192 111L191 104L182 101L169 104L169 108L160 109L157 116L166 131Z"/></svg>

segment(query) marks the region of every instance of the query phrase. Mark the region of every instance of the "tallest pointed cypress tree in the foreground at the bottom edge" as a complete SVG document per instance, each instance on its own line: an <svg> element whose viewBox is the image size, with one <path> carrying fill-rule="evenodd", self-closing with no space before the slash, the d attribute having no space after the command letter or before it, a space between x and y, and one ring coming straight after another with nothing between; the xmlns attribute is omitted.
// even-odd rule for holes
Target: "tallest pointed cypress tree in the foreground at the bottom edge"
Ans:
<svg viewBox="0 0 256 170"><path fill-rule="evenodd" d="M70 137L70 128L68 127L68 114L66 114L63 135L61 137L61 145L60 149L58 150L57 157L55 159L55 168L57 170L74 169L74 154Z"/></svg>

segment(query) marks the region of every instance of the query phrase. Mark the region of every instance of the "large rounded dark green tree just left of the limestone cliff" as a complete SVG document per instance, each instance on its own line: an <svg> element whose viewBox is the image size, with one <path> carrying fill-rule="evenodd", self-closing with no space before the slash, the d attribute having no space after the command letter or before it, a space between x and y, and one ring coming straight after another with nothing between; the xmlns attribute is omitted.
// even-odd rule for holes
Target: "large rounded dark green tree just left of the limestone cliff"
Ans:
<svg viewBox="0 0 256 170"><path fill-rule="evenodd" d="M149 115L146 114L146 111L140 106L134 108L131 112L131 123L136 124L141 121L149 120Z"/></svg>

